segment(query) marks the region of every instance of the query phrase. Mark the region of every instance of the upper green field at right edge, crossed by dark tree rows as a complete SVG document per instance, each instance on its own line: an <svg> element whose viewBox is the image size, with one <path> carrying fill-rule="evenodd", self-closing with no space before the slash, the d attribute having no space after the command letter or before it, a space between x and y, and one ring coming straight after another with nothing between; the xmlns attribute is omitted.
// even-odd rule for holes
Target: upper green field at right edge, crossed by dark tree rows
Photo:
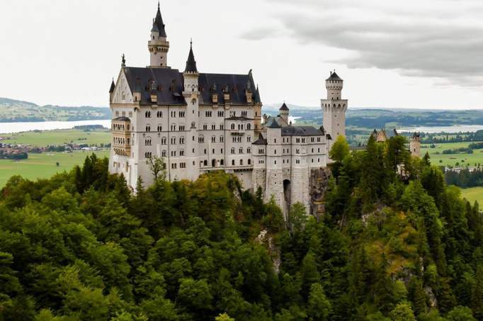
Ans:
<svg viewBox="0 0 483 321"><path fill-rule="evenodd" d="M460 167L474 167L475 163L483 164L483 150L474 150L473 154L443 154L443 150L468 147L470 144L471 142L445 142L436 144L435 148L429 148L429 145L423 144L421 145L421 156L429 152L431 163L435 165L450 165L455 167L458 162L460 163ZM439 154L436 154L436 152L439 152Z"/></svg>

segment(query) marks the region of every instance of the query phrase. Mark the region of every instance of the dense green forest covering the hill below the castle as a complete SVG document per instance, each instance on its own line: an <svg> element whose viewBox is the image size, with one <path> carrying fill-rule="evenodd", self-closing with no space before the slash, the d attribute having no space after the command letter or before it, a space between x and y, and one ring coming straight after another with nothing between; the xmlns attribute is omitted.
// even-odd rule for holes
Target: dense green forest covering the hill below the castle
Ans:
<svg viewBox="0 0 483 321"><path fill-rule="evenodd" d="M215 171L132 193L95 155L0 193L0 320L483 320L483 218L406 139L330 156L288 219Z"/></svg>

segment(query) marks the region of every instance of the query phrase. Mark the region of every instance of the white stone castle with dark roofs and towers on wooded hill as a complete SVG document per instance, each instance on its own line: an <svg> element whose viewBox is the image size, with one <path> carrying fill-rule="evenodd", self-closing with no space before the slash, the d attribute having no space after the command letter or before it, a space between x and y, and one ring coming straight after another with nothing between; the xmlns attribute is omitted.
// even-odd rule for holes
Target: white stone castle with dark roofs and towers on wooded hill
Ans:
<svg viewBox="0 0 483 321"><path fill-rule="evenodd" d="M266 200L274 197L284 213L296 202L308 210L312 171L326 167L331 140L345 135L343 80L335 72L326 79L324 126L297 126L290 123L285 103L278 116L262 116L251 71L198 72L193 45L184 72L169 67L159 4L148 48L149 66L127 67L123 57L110 86L110 172L123 174L135 190L139 177L152 184L147 161L160 157L170 181L223 170L246 189L261 188Z"/></svg>

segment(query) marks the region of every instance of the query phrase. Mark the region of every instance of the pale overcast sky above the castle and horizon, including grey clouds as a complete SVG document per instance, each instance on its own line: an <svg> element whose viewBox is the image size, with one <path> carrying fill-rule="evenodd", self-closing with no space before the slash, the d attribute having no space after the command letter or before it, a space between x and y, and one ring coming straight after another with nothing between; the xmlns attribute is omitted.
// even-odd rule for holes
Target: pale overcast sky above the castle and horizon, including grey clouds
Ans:
<svg viewBox="0 0 483 321"><path fill-rule="evenodd" d="M149 64L154 0L0 0L0 96L108 106ZM168 63L253 69L263 103L319 106L336 69L352 107L483 108L481 0L164 0Z"/></svg>

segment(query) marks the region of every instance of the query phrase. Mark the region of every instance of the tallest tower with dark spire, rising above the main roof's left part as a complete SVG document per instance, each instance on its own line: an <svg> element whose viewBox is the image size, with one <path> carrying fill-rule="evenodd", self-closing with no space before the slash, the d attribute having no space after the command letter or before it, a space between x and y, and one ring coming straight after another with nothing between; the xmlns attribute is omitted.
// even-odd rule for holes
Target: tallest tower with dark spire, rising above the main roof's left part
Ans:
<svg viewBox="0 0 483 321"><path fill-rule="evenodd" d="M169 42L166 40L166 30L164 29L163 18L161 17L159 2L158 12L153 21L151 38L149 38L147 47L149 49L149 55L151 55L149 67L168 67Z"/></svg>

